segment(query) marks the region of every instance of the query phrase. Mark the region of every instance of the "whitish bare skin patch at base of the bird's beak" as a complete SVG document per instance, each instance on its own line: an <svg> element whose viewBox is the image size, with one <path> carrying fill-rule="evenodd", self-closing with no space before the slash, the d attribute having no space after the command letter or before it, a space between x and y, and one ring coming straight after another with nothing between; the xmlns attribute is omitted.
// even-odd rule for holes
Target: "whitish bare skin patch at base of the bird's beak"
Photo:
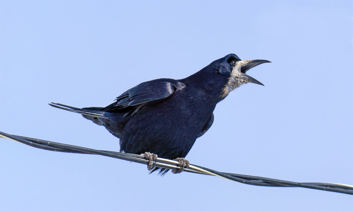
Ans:
<svg viewBox="0 0 353 211"><path fill-rule="evenodd" d="M241 66L249 62L250 60L244 60L244 61L237 61L237 63L235 63L235 66L233 66L231 76L228 79L228 83L223 88L222 97L226 97L229 94L229 92L240 87L242 84L249 82L241 77L243 73L240 72Z"/></svg>

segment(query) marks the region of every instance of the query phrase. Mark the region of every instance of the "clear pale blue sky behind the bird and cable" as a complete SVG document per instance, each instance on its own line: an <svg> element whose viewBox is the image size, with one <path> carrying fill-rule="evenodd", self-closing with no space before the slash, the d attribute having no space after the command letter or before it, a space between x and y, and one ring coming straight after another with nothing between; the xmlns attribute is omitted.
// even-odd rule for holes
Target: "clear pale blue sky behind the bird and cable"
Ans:
<svg viewBox="0 0 353 211"><path fill-rule="evenodd" d="M140 82L229 53L272 63L217 104L186 158L211 169L353 185L352 1L0 2L1 131L119 151L81 115ZM0 139L1 210L352 210L352 196L258 187ZM207 155L212 155L207 157Z"/></svg>

